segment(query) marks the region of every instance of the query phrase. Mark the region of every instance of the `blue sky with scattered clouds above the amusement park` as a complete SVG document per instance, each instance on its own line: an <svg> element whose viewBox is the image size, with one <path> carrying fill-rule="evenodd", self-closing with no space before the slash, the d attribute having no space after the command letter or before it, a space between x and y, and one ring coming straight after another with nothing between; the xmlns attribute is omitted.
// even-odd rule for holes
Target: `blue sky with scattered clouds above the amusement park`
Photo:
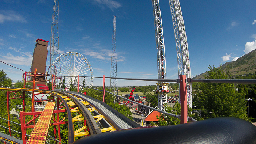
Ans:
<svg viewBox="0 0 256 144"><path fill-rule="evenodd" d="M29 71L36 39L50 41L54 0L0 1L0 60ZM169 1L160 0L167 79L178 78ZM255 0L180 0L192 77L256 49ZM60 54L83 54L94 76L110 77L113 15L116 16L117 77L157 79L157 51L151 0L60 0ZM48 43L50 45L50 42ZM47 68L50 64L48 51ZM46 68L46 69L47 69ZM0 63L13 81L23 71ZM155 82L118 80L118 86ZM94 86L102 86L94 79ZM110 85L109 79L106 85Z"/></svg>

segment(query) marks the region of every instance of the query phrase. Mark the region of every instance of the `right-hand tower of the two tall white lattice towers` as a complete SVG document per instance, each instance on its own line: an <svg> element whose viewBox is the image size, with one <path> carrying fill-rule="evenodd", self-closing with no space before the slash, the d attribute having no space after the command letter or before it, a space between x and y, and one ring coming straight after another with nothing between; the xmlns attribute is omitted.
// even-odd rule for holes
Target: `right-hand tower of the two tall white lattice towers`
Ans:
<svg viewBox="0 0 256 144"><path fill-rule="evenodd" d="M176 41L177 58L178 58L178 73L186 75L186 78L191 78L190 62L188 54L188 42L185 31L184 20L180 8L179 0L169 0L170 10L172 13L173 29ZM191 83L187 83L187 98L188 105L192 107L192 88Z"/></svg>

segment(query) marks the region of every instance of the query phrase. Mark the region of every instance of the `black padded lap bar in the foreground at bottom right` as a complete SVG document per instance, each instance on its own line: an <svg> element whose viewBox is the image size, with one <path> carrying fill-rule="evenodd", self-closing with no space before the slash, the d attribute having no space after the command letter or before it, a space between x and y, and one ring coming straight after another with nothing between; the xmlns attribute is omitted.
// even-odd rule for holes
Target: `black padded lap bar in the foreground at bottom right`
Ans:
<svg viewBox="0 0 256 144"><path fill-rule="evenodd" d="M94 134L73 144L256 144L256 126L233 117Z"/></svg>

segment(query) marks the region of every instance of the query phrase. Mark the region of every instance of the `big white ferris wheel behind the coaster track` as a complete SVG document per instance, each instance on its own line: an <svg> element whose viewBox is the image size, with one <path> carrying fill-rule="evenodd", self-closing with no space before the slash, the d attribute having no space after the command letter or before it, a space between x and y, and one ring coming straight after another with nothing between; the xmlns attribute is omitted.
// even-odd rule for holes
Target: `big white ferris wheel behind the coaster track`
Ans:
<svg viewBox="0 0 256 144"><path fill-rule="evenodd" d="M93 69L90 62L82 54L77 52L66 52L56 58L55 68L57 71L61 71L62 78L65 76L65 90L69 90L71 85L77 88L78 75L79 75L79 89L83 90L83 86L93 86ZM90 76L90 77L83 77Z"/></svg>

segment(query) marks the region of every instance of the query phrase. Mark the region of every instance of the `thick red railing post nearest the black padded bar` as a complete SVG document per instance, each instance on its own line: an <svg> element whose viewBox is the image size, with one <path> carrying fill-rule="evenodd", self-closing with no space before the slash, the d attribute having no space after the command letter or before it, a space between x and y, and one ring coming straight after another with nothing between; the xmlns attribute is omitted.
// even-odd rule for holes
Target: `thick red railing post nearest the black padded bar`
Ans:
<svg viewBox="0 0 256 144"><path fill-rule="evenodd" d="M180 123L187 123L188 117L188 99L186 75L180 75Z"/></svg>

